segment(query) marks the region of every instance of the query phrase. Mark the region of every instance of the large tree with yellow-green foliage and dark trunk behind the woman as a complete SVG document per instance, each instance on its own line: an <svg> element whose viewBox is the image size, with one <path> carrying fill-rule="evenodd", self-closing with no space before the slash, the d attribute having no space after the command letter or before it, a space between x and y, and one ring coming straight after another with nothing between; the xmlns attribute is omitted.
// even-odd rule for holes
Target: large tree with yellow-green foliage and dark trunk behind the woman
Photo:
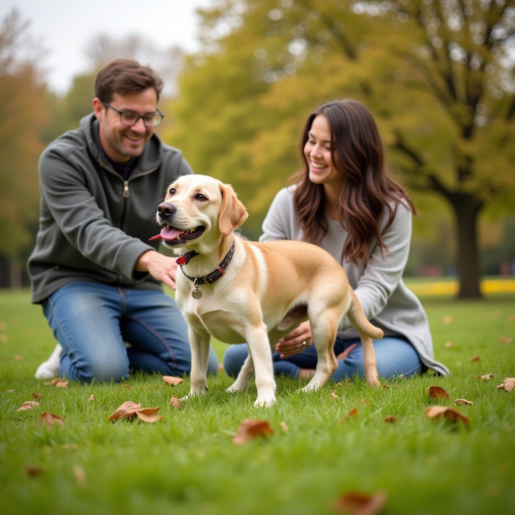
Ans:
<svg viewBox="0 0 515 515"><path fill-rule="evenodd" d="M515 192L512 2L224 0L203 20L167 134L194 168L262 219L307 113L362 100L390 167L452 210L459 297L478 297L478 216Z"/></svg>

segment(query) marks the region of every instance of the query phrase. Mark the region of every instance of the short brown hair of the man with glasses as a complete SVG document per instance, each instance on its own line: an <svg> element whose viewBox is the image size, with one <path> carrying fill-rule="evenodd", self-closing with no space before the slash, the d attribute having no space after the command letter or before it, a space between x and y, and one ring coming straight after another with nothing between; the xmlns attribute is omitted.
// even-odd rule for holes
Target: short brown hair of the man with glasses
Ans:
<svg viewBox="0 0 515 515"><path fill-rule="evenodd" d="M149 66L131 59L115 59L104 66L95 79L95 96L110 102L113 94L125 95L153 88L157 99L163 90L163 81Z"/></svg>

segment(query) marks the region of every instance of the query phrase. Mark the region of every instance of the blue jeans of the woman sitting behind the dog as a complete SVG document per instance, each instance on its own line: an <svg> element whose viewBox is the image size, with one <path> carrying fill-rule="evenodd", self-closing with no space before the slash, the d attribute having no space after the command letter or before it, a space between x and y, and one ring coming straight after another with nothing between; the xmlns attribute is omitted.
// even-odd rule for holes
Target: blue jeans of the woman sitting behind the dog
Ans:
<svg viewBox="0 0 515 515"><path fill-rule="evenodd" d="M357 347L345 359L338 361L338 368L331 379L341 381L355 374L364 377L363 348L359 338L349 340L336 338L334 352L338 355L352 344L357 344ZM421 372L420 357L406 339L386 336L381 340L374 341L373 345L377 361L377 373L380 377L388 378L399 374L407 377ZM224 354L224 370L229 375L236 376L247 355L247 344L231 345ZM272 361L275 375L285 374L290 377L297 377L301 368L314 369L317 366L317 351L315 346L311 345L302 352L284 359L279 357L279 353L272 352Z"/></svg>

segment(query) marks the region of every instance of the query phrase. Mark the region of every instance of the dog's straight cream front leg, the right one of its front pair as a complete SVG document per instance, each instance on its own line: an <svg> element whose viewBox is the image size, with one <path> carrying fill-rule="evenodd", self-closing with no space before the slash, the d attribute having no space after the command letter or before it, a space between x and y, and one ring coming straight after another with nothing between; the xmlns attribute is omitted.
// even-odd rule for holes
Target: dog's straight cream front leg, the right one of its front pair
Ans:
<svg viewBox="0 0 515 515"><path fill-rule="evenodd" d="M255 383L258 390L258 398L254 406L270 406L276 402L276 382L273 379L272 353L266 325L262 323L258 327L249 328L246 337L254 362Z"/></svg>

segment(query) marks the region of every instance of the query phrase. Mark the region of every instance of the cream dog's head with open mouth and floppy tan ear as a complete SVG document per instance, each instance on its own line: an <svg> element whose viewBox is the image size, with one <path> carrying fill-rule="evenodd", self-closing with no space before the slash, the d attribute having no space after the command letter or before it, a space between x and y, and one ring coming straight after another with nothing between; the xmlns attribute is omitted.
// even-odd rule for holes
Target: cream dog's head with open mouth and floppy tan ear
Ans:
<svg viewBox="0 0 515 515"><path fill-rule="evenodd" d="M230 184L205 175L184 175L168 186L156 219L165 245L177 248L228 236L247 216Z"/></svg>

